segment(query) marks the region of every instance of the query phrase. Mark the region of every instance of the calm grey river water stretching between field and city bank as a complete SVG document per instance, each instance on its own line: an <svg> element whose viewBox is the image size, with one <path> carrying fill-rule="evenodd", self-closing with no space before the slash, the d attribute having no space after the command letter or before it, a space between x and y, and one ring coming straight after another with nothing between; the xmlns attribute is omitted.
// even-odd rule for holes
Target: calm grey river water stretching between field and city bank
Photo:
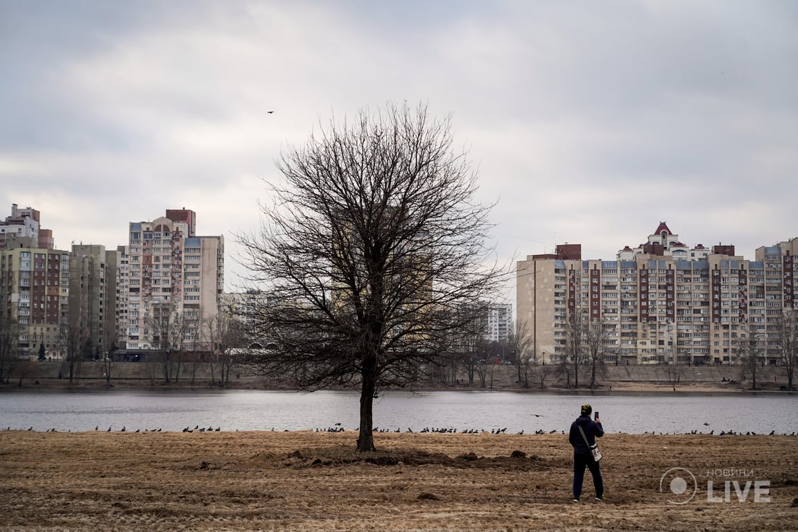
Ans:
<svg viewBox="0 0 798 532"><path fill-rule="evenodd" d="M798 432L796 396L787 394L567 394L520 392L389 392L374 401L377 430L508 434L563 431L579 406L601 412L607 432L641 434ZM0 429L59 432L136 429L181 431L326 430L358 428L359 396L352 391L262 390L5 390Z"/></svg>

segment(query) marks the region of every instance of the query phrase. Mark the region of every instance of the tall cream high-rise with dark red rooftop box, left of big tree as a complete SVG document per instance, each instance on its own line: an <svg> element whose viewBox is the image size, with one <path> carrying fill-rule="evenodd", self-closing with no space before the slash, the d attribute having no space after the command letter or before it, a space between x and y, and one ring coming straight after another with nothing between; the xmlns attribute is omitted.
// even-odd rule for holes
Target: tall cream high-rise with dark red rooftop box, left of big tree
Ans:
<svg viewBox="0 0 798 532"><path fill-rule="evenodd" d="M198 236L194 211L168 209L151 222L129 224L127 267L127 278L120 281L120 287L127 286L120 295L127 298L127 309L119 314L126 320L127 349L161 349L163 324L174 317L180 338L169 340L172 349L211 350L202 329L219 312L223 236Z"/></svg>

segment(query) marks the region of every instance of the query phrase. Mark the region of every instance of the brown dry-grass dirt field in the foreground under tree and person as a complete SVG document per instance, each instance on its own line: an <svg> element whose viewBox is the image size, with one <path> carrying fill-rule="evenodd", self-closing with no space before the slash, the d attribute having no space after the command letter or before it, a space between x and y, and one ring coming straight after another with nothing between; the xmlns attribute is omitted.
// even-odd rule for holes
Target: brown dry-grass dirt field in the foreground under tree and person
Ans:
<svg viewBox="0 0 798 532"><path fill-rule="evenodd" d="M608 434L578 504L561 434L356 437L2 431L0 530L798 530L795 436Z"/></svg>

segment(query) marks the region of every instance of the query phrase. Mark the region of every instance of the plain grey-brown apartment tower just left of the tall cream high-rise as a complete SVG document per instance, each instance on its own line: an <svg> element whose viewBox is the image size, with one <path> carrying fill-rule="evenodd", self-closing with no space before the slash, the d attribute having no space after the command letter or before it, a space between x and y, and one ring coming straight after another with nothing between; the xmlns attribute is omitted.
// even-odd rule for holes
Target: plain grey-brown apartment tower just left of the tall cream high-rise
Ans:
<svg viewBox="0 0 798 532"><path fill-rule="evenodd" d="M100 359L116 345L117 251L73 244L69 255L69 331L86 359Z"/></svg>

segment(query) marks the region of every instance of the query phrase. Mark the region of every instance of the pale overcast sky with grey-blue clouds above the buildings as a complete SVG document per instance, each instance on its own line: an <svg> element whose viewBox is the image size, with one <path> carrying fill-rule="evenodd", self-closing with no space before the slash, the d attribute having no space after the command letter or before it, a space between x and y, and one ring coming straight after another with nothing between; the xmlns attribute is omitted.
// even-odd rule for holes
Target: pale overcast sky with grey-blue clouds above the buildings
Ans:
<svg viewBox="0 0 798 532"><path fill-rule="evenodd" d="M113 249L186 207L232 289L281 148L386 100L451 115L511 264L798 236L789 0L0 0L0 219Z"/></svg>

